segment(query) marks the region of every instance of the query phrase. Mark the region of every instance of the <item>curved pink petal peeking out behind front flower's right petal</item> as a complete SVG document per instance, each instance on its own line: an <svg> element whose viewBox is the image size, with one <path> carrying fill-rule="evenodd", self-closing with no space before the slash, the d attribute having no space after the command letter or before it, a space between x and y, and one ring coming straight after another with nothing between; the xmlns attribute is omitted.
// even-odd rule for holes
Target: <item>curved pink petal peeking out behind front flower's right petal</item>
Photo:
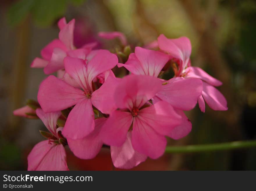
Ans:
<svg viewBox="0 0 256 191"><path fill-rule="evenodd" d="M182 116L182 123L173 128L173 130L167 135L175 140L186 137L192 129L192 124L184 112L181 110L176 110L176 112Z"/></svg>

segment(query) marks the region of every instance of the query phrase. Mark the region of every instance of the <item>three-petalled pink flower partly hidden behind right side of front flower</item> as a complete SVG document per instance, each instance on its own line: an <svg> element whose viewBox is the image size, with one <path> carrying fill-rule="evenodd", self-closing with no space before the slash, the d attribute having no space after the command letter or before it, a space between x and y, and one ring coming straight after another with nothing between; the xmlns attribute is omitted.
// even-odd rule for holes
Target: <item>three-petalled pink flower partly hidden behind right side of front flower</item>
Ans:
<svg viewBox="0 0 256 191"><path fill-rule="evenodd" d="M130 54L128 61L125 64L118 63L118 67L123 66L132 74L158 77L168 60L169 56L162 52L136 47L135 53ZM178 77L163 81L162 84L152 100L153 103L161 100L170 103L182 116L182 123L173 129L171 136L173 139L180 139L185 137L192 128L192 124L181 110L191 110L195 107L202 93L202 82L199 79Z"/></svg>

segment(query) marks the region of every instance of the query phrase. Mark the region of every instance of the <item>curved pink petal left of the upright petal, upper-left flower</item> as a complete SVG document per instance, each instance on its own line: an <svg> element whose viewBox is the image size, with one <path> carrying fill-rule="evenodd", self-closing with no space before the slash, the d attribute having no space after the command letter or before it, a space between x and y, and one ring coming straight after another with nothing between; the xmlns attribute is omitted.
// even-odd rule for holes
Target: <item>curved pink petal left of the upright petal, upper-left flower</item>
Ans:
<svg viewBox="0 0 256 191"><path fill-rule="evenodd" d="M59 39L54 39L41 50L42 58L50 61L54 48L60 48L63 51L67 51L67 48L63 42L61 42Z"/></svg>

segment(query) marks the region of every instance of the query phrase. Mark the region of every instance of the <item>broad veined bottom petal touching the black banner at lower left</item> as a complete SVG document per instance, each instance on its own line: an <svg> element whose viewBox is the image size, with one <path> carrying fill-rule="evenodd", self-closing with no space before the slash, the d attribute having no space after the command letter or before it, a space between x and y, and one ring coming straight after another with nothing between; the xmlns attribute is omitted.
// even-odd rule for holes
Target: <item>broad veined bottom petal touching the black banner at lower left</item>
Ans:
<svg viewBox="0 0 256 191"><path fill-rule="evenodd" d="M28 170L68 170L65 148L48 140L39 142L28 155Z"/></svg>

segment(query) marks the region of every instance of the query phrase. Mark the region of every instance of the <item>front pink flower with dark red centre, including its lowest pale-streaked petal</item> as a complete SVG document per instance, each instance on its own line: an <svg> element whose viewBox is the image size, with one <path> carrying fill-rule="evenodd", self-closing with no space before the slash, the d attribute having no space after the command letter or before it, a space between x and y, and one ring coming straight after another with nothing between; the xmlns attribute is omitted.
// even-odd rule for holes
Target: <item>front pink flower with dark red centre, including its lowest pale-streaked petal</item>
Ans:
<svg viewBox="0 0 256 191"><path fill-rule="evenodd" d="M148 102L160 89L159 79L142 75L126 76L115 88L113 104L119 110L111 112L102 126L101 137L111 145L116 167L131 168L147 156L160 157L166 147L165 136L181 123L170 104Z"/></svg>

